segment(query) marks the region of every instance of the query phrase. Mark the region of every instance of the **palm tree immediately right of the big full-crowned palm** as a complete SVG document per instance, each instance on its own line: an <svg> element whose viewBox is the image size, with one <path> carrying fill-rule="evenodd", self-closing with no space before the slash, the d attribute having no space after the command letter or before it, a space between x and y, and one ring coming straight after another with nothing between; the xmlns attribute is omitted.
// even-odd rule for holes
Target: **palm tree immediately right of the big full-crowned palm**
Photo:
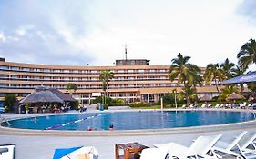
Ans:
<svg viewBox="0 0 256 159"><path fill-rule="evenodd" d="M218 84L220 81L223 81L224 79L226 79L226 75L224 74L223 70L220 68L220 65L219 64L207 65L203 77L205 82L207 83L214 80L218 94L220 94Z"/></svg>

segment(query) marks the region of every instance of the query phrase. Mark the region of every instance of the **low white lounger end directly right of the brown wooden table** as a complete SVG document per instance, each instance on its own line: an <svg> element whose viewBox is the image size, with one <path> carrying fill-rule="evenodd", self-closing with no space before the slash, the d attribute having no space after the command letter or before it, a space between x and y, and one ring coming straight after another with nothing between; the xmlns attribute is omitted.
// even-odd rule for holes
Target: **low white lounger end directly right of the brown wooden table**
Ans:
<svg viewBox="0 0 256 159"><path fill-rule="evenodd" d="M165 147L146 148L142 150L140 159L166 159L168 155L168 149Z"/></svg>

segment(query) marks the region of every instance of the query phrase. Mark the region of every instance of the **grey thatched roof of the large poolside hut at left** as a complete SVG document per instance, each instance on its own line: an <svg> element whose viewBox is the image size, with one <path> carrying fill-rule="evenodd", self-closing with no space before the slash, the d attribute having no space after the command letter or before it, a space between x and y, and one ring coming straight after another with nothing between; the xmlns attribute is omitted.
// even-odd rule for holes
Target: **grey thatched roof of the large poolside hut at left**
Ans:
<svg viewBox="0 0 256 159"><path fill-rule="evenodd" d="M45 86L39 86L36 90L28 94L26 98L19 102L20 104L35 104L35 103L64 103L64 100L52 93Z"/></svg>

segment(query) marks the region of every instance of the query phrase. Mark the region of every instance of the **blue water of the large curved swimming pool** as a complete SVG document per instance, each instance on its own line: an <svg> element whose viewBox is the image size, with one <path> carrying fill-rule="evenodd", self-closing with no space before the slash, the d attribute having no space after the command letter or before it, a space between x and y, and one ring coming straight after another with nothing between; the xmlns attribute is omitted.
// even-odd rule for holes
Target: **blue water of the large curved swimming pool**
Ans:
<svg viewBox="0 0 256 159"><path fill-rule="evenodd" d="M226 111L152 111L97 114L63 114L11 121L10 127L48 130L115 130L162 129L210 124L230 124L253 120L249 112ZM7 126L4 123L4 126Z"/></svg>

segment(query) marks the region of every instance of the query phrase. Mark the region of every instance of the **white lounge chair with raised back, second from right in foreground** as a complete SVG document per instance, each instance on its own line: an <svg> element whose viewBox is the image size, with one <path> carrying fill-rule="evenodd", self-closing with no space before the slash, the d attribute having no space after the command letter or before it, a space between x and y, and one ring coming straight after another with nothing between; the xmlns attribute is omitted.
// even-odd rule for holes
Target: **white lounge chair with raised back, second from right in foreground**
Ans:
<svg viewBox="0 0 256 159"><path fill-rule="evenodd" d="M231 154L234 156L242 156L241 152L235 152L234 149L240 149L239 142L241 142L244 137L244 135L247 134L246 131L242 132L239 134L231 143L223 142L223 141L218 141L214 146L213 149L214 151L219 151L224 154ZM219 155L220 157L220 155Z"/></svg>

